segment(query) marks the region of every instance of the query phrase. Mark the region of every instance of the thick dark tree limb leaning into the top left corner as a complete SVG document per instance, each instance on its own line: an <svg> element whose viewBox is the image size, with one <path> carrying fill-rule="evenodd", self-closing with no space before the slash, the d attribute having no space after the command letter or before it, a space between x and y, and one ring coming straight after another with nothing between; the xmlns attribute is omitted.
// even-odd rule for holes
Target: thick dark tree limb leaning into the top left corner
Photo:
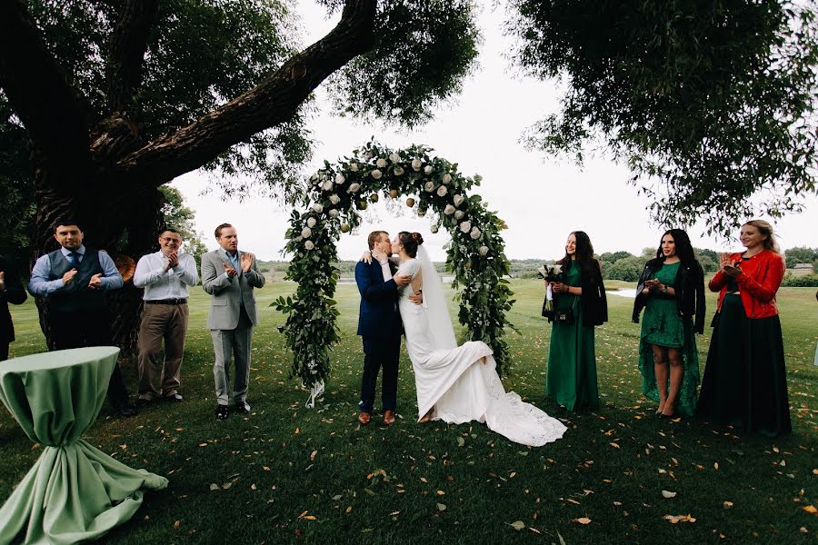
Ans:
<svg viewBox="0 0 818 545"><path fill-rule="evenodd" d="M65 167L88 161L81 97L20 0L0 2L0 87L48 162Z"/></svg>

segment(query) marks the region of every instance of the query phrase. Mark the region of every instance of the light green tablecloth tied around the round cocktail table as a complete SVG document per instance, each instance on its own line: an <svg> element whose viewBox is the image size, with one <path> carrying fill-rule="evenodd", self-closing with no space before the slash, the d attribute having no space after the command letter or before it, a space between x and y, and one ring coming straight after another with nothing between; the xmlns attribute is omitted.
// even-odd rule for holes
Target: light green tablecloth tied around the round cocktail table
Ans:
<svg viewBox="0 0 818 545"><path fill-rule="evenodd" d="M105 401L119 349L95 346L0 362L0 400L45 451L0 508L0 544L100 538L167 479L132 470L80 436Z"/></svg>

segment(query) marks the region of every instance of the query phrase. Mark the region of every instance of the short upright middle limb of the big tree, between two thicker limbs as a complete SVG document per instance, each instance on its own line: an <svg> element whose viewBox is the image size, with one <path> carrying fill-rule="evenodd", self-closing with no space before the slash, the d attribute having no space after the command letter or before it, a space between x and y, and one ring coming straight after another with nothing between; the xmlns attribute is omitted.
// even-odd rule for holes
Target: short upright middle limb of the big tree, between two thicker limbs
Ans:
<svg viewBox="0 0 818 545"><path fill-rule="evenodd" d="M142 83L147 38L159 11L157 0L127 0L111 33L105 68L108 105L123 112Z"/></svg>

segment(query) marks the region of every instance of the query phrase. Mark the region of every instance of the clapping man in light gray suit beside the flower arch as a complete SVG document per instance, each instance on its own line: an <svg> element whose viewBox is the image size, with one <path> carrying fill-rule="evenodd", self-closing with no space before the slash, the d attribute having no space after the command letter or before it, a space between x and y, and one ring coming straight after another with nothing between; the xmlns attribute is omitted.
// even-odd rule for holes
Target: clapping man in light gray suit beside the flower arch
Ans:
<svg viewBox="0 0 818 545"><path fill-rule="evenodd" d="M222 223L215 229L218 250L202 256L202 287L211 294L207 328L213 336L215 362L215 417L227 418L230 401L230 360L235 361L233 401L235 410L247 414L247 381L250 376L250 347L253 328L258 324L253 288L264 285L255 256L239 252L238 236L233 225Z"/></svg>

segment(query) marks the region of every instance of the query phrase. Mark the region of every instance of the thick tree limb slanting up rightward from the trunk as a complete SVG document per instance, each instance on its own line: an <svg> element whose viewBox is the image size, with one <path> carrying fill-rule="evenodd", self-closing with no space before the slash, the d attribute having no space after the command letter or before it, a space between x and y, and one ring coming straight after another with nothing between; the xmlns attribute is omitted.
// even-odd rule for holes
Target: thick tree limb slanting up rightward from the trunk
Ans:
<svg viewBox="0 0 818 545"><path fill-rule="evenodd" d="M212 161L230 146L283 123L330 74L374 45L375 0L347 0L341 21L254 89L125 156L116 169L131 187L158 186Z"/></svg>

